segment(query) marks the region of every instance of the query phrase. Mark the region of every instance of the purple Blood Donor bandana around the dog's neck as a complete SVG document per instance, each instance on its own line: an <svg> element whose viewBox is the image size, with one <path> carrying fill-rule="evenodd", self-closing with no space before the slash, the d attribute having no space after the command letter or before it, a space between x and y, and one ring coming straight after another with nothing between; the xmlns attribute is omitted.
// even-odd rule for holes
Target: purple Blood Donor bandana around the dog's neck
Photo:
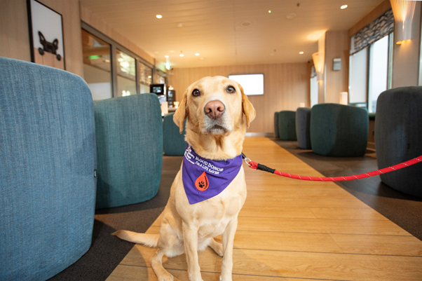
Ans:
<svg viewBox="0 0 422 281"><path fill-rule="evenodd" d="M182 180L189 203L207 200L219 193L233 181L242 167L242 156L226 161L205 159L188 145L184 151Z"/></svg>

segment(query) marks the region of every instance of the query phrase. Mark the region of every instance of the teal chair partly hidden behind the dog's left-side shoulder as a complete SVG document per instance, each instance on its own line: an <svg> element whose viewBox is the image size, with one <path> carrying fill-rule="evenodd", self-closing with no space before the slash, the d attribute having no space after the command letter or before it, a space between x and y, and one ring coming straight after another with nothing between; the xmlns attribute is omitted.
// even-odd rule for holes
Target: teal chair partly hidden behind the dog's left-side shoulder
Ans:
<svg viewBox="0 0 422 281"><path fill-rule="evenodd" d="M167 114L163 120L163 142L164 154L166 156L182 156L186 150L187 142L184 140L186 135L186 121L184 122L183 132L180 133L179 127L173 121L175 113Z"/></svg>

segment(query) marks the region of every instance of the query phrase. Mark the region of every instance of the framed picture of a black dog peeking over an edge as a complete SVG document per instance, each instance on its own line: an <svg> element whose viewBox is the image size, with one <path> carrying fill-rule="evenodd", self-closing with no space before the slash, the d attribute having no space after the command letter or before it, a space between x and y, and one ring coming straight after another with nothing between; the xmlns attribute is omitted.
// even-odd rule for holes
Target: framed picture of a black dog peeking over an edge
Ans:
<svg viewBox="0 0 422 281"><path fill-rule="evenodd" d="M27 0L31 60L64 70L62 15L36 0Z"/></svg>

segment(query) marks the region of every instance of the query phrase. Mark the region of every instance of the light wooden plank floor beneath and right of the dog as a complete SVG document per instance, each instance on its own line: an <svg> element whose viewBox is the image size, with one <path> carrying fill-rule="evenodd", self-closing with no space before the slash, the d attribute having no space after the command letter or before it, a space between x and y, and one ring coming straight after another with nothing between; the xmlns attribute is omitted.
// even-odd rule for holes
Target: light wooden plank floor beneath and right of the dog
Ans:
<svg viewBox="0 0 422 281"><path fill-rule="evenodd" d="M265 137L247 137L243 151L283 172L322 176ZM233 280L422 280L422 241L341 187L244 167ZM159 225L160 218L147 233ZM157 280L149 264L154 252L135 245L107 280ZM219 280L222 258L212 249L199 253L199 263L203 280ZM175 280L189 280L184 255L164 257L163 265Z"/></svg>

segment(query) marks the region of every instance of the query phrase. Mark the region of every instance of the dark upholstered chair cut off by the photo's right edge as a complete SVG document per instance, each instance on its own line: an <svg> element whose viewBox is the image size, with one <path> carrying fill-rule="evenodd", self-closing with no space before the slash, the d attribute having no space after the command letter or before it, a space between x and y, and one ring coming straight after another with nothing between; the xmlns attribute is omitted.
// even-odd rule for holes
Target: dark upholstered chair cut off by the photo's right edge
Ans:
<svg viewBox="0 0 422 281"><path fill-rule="evenodd" d="M386 90L376 102L376 160L379 169L422 154L422 87ZM422 164L388 174L381 180L397 191L422 197Z"/></svg>

